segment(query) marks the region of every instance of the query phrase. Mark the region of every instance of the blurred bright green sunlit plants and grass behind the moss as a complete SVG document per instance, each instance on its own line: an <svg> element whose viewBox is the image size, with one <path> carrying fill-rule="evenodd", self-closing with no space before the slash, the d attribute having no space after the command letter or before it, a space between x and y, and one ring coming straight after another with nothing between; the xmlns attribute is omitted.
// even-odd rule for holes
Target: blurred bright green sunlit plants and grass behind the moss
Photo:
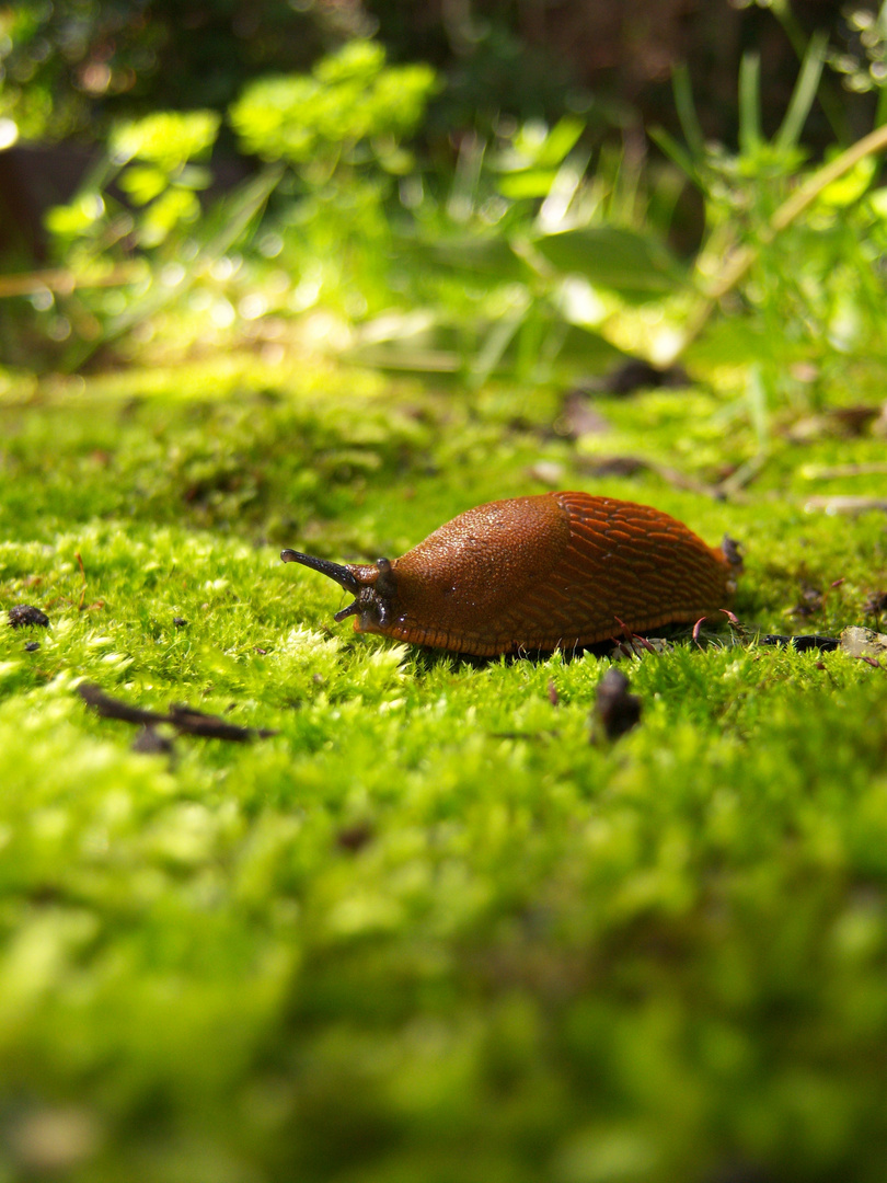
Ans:
<svg viewBox="0 0 887 1183"><path fill-rule="evenodd" d="M291 331L274 323L276 340L307 337L341 357L473 386L494 374L538 384L626 353L668 363L705 322L697 348L750 367L749 415L765 450L773 411L816 403L848 350L885 358L874 157L803 216L772 226L814 175L802 132L828 60L826 38L814 37L766 138L759 60L747 54L738 150L706 140L679 71L685 146L653 130L673 164L628 134L595 147L576 114L550 123L503 114L485 135L454 135L454 157L416 154L442 79L427 65L390 64L367 38L310 73L251 82L225 122L168 111L115 124L104 162L48 218L54 260L70 274L48 289L35 282L31 309L7 303L33 322L8 338L19 350L9 360L31 354L41 332L46 363L69 370L103 350L136 354L140 340L156 340L158 312L167 340L176 331L171 309L187 349L198 323L188 302L212 309L202 323L214 343L222 330L254 338L277 317ZM219 201L206 196L208 155L225 128L264 164ZM704 199L693 259L669 246L675 164ZM753 266L721 287L746 251ZM824 380L796 376L811 369Z"/></svg>

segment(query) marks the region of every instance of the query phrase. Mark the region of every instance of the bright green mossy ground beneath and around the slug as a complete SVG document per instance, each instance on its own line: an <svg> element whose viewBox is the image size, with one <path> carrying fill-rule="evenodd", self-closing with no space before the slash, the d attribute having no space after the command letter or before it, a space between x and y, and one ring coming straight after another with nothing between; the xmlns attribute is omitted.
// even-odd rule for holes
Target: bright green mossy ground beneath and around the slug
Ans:
<svg viewBox="0 0 887 1183"><path fill-rule="evenodd" d="M711 479L723 400L601 409L577 446L553 395L247 358L8 384L0 607L51 627L0 628L0 1179L883 1178L887 671L685 631L591 744L607 659L358 636L278 561L399 554L545 460L740 539L751 626L875 622L885 517L808 512L799 461L882 441L718 503L583 464ZM278 733L135 752L82 679Z"/></svg>

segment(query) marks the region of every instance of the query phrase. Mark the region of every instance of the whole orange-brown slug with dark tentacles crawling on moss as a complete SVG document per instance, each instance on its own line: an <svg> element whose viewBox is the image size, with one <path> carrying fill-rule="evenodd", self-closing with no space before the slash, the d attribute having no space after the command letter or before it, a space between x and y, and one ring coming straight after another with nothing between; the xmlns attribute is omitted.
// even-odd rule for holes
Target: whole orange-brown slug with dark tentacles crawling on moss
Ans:
<svg viewBox="0 0 887 1183"><path fill-rule="evenodd" d="M731 563L660 510L588 493L479 505L389 562L339 565L284 550L336 580L355 629L491 657L593 645L711 616Z"/></svg>

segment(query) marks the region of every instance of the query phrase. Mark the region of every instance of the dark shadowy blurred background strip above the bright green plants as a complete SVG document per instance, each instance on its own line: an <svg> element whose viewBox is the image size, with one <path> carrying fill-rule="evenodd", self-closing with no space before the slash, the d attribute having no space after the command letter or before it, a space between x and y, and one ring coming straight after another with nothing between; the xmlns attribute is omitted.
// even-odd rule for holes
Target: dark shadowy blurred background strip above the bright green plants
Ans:
<svg viewBox="0 0 887 1183"><path fill-rule="evenodd" d="M0 12L0 117L11 114L28 138L101 140L111 122L158 108L222 111L257 75L305 71L343 41L375 34L394 60L428 62L447 79L430 112L433 141L453 128L488 135L501 114L553 122L568 108L598 131L662 118L667 72L680 60L692 63L710 134L724 138L736 123L725 79L743 50L756 45L768 60L772 108L790 85L798 45L817 28L830 34L830 67L843 84L827 105L831 115L839 108L846 138L869 117L868 91L882 80L872 0L714 0L689 11L673 0L634 0L624 11L562 0L556 13L499 0L428 8L400 0L267 0L260 8L250 0L28 0ZM820 112L812 130L823 143Z"/></svg>

